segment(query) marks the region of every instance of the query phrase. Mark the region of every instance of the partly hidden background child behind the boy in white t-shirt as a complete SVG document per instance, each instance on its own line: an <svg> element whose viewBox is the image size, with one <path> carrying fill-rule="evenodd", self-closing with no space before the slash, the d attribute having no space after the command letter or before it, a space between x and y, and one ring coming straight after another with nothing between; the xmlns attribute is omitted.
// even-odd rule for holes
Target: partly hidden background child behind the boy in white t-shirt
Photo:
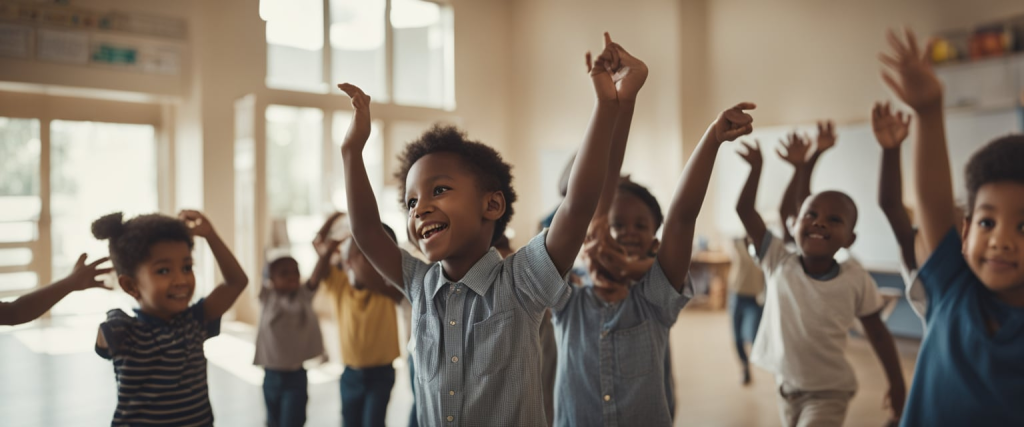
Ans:
<svg viewBox="0 0 1024 427"><path fill-rule="evenodd" d="M765 275L751 257L746 238L733 239L729 247L732 266L729 268L729 315L732 318L732 337L736 354L742 364L742 384L751 383L751 364L746 357L745 343L754 342L761 325L764 309L758 296L764 292Z"/></svg>

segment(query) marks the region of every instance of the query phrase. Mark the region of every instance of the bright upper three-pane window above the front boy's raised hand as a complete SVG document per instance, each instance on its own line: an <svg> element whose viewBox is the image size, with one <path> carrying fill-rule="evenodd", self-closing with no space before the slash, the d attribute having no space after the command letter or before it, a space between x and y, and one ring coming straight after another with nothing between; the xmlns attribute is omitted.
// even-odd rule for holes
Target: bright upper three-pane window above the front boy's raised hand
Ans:
<svg viewBox="0 0 1024 427"><path fill-rule="evenodd" d="M351 82L375 102L455 109L450 6L429 0L261 0L260 14L271 88L335 93L336 83Z"/></svg>

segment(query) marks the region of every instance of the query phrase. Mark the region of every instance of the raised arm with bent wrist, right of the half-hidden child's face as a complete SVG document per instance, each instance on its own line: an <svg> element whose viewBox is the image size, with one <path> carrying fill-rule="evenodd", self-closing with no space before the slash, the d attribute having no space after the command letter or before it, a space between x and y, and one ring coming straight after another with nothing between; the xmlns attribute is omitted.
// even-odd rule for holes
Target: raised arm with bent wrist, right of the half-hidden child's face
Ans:
<svg viewBox="0 0 1024 427"><path fill-rule="evenodd" d="M756 105L742 102L722 112L712 123L703 138L697 143L693 155L686 162L683 176L672 198L665 229L662 231L662 248L657 251L658 264L677 291L683 289L686 273L690 269L690 255L693 251L693 228L703 205L708 183L715 168L715 158L722 143L731 141L754 131L754 118L744 110Z"/></svg>

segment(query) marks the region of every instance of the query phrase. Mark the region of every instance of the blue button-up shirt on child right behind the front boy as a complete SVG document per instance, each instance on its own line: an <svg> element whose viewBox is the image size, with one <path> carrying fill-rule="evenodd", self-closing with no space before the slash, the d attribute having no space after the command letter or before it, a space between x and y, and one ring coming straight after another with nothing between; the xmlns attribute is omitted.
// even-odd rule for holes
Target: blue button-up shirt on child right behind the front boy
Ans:
<svg viewBox="0 0 1024 427"><path fill-rule="evenodd" d="M616 303L604 302L593 286L577 289L552 316L555 425L672 425L669 330L692 297L689 279L677 291L658 262Z"/></svg>

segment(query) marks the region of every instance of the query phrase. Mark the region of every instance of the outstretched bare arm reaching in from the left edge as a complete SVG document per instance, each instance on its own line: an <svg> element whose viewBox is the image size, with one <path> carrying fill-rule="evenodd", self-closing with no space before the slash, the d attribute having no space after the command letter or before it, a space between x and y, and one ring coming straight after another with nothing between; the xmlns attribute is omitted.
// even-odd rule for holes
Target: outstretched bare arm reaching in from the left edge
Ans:
<svg viewBox="0 0 1024 427"><path fill-rule="evenodd" d="M75 262L75 268L67 277L22 295L14 301L0 302L0 326L14 326L32 322L75 291L91 288L110 290L111 288L103 285L103 281L96 280L97 275L111 272L112 268L96 268L108 259L110 258L100 258L86 264L85 254L82 254Z"/></svg>

